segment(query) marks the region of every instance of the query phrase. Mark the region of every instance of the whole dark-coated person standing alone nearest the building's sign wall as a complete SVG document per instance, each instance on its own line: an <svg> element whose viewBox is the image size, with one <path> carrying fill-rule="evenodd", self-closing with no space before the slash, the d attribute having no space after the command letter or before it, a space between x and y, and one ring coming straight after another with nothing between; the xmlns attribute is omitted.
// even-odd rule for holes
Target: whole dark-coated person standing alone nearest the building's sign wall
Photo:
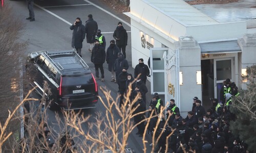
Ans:
<svg viewBox="0 0 256 153"><path fill-rule="evenodd" d="M123 28L122 22L117 23L117 28L113 34L114 39L116 39L116 45L122 50L123 58L126 58L125 48L127 46L128 35L126 30Z"/></svg>

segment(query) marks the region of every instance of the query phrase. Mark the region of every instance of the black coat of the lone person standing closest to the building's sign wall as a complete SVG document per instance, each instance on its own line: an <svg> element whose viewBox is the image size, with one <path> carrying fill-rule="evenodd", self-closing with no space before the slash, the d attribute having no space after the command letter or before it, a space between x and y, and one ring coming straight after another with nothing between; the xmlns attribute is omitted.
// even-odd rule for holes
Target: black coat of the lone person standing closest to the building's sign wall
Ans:
<svg viewBox="0 0 256 153"><path fill-rule="evenodd" d="M116 39L117 46L127 45L128 35L123 26L116 28L113 37Z"/></svg>

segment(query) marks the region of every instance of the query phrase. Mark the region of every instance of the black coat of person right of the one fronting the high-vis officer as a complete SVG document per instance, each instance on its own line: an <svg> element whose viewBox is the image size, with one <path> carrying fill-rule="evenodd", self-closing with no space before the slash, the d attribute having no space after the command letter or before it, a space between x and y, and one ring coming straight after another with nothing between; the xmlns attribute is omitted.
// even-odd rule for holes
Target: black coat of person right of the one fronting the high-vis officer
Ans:
<svg viewBox="0 0 256 153"><path fill-rule="evenodd" d="M120 50L116 45L114 47L109 46L108 49L106 49L106 63L109 64L109 71L111 71L112 68L114 69L118 52L120 52Z"/></svg>

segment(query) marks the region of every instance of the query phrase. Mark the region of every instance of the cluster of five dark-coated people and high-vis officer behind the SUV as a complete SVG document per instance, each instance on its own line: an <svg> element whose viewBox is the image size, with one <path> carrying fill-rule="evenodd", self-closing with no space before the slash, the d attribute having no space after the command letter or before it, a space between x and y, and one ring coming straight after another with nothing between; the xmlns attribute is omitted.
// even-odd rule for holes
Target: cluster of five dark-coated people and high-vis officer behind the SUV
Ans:
<svg viewBox="0 0 256 153"><path fill-rule="evenodd" d="M111 82L118 83L118 75L123 69L127 70L129 68L128 62L125 60L125 48L128 36L122 26L122 22L118 22L117 28L113 34L115 40L110 41L110 46L107 49L105 37L101 34L101 30L98 29L98 24L93 20L92 14L88 15L88 20L85 25L83 25L81 19L77 17L74 24L70 26L70 30L73 30L72 47L76 49L80 57L84 38L87 39L87 43L90 43L88 50L91 53L91 62L93 62L95 66L95 79L99 80L100 69L101 81L105 81L103 63L106 61L106 63L109 64L108 69L112 74Z"/></svg>

